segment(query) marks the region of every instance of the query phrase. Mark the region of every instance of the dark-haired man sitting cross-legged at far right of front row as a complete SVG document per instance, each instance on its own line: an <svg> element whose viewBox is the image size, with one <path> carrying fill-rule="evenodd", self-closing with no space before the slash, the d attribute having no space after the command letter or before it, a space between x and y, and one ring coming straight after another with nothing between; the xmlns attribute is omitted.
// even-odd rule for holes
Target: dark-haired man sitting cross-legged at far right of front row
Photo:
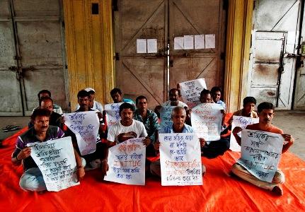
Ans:
<svg viewBox="0 0 305 212"><path fill-rule="evenodd" d="M271 124L272 119L274 117L274 110L275 107L272 105L272 103L270 102L260 103L260 105L258 105L258 118L259 118L258 124L248 125L246 126L246 129L282 134L285 141L282 148L282 153L284 153L288 150L290 146L292 146L294 139L289 134L283 134L282 129L279 129ZM241 145L241 138L238 136L238 132L240 131L241 131L241 127L239 126L236 126L232 131L239 145ZM252 184L255 184L258 187L270 190L277 195L283 194L282 187L280 187L280 184L284 183L284 173L281 172L280 170L277 170L277 172L275 172L275 177L273 177L272 182L265 182L254 177L250 172L248 172L248 170L246 170L242 165L239 165L238 163L235 163L232 166L232 172L234 173L234 175L241 177L241 179L244 179Z"/></svg>

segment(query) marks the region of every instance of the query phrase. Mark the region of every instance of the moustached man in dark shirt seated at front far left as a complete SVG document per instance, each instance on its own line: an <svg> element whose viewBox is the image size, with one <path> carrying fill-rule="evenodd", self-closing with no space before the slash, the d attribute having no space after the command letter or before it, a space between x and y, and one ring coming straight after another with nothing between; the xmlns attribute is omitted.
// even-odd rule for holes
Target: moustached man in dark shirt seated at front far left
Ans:
<svg viewBox="0 0 305 212"><path fill-rule="evenodd" d="M42 173L36 165L33 158L30 156L30 147L28 143L44 142L52 139L60 139L64 136L64 132L58 126L49 126L50 111L45 109L34 110L31 118L34 126L25 133L18 136L16 141L16 149L12 154L11 161L14 165L23 164L24 173L20 179L20 186L22 189L40 192L47 189ZM74 150L77 165L77 175L79 180L85 175L84 164L81 157Z"/></svg>

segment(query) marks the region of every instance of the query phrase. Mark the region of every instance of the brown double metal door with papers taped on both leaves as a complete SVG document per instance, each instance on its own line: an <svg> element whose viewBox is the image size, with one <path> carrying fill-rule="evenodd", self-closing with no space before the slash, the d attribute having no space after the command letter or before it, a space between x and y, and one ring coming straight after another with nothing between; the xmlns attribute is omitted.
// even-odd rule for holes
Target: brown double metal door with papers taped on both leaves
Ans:
<svg viewBox="0 0 305 212"><path fill-rule="evenodd" d="M167 100L169 88L182 81L204 77L209 88L221 85L225 34L222 2L117 1L116 86L132 99L146 95L153 107ZM216 36L215 48L174 50L174 37L205 34ZM157 39L158 53L137 54L137 39L153 38Z"/></svg>

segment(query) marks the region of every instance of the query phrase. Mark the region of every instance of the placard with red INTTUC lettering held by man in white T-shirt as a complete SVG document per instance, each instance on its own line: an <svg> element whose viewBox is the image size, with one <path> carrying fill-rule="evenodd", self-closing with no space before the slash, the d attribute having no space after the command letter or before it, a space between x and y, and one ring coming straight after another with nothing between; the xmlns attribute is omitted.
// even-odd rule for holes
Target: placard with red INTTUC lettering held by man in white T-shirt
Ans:
<svg viewBox="0 0 305 212"><path fill-rule="evenodd" d="M144 138L129 139L109 148L109 170L104 177L122 184L145 184L146 147Z"/></svg>

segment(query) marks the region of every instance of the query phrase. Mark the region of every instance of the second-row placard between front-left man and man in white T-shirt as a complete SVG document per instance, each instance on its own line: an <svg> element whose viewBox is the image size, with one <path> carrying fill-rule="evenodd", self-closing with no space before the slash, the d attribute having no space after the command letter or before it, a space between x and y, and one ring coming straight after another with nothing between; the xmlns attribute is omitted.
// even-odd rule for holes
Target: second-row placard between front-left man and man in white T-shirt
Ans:
<svg viewBox="0 0 305 212"><path fill-rule="evenodd" d="M100 126L96 111L65 113L64 124L75 134L81 155L88 155L96 151Z"/></svg>

